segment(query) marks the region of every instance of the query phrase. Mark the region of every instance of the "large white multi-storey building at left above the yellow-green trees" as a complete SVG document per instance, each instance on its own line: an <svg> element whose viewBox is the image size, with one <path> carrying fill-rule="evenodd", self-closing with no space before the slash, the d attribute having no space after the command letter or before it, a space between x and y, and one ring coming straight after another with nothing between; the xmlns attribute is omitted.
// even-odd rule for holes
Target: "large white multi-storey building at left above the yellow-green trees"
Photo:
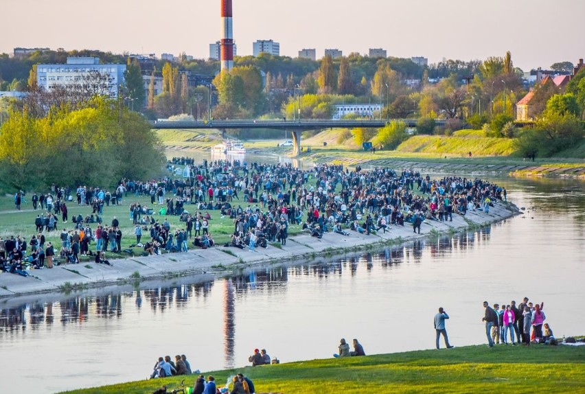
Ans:
<svg viewBox="0 0 585 394"><path fill-rule="evenodd" d="M117 97L119 86L124 82L126 65L102 65L100 58L69 57L65 65L37 65L36 82L50 90L53 86L84 84L86 78L93 78L91 73L100 73L103 84L110 97Z"/></svg>

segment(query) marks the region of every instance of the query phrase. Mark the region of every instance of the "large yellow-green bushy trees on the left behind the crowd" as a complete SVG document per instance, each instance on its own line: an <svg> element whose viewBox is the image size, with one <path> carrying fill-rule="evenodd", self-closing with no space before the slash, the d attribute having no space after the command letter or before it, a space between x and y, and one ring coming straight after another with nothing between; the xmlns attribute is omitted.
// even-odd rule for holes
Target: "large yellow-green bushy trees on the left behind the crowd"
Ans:
<svg viewBox="0 0 585 394"><path fill-rule="evenodd" d="M46 115L14 111L0 134L0 174L12 189L50 185L113 186L122 178L160 176L163 151L138 113L95 96Z"/></svg>

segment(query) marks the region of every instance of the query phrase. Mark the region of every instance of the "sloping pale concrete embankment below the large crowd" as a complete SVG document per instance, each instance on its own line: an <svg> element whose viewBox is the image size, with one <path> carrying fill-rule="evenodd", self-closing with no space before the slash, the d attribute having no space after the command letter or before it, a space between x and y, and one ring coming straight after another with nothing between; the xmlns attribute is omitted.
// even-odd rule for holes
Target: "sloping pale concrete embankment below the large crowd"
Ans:
<svg viewBox="0 0 585 394"><path fill-rule="evenodd" d="M453 214L452 222L425 220L420 235L413 233L410 224L392 226L389 231L365 235L349 231L349 236L325 233L323 238L301 233L286 240L282 248L247 249L217 246L208 249L192 249L187 253L165 253L147 257L129 257L113 261L113 266L104 264L65 264L52 269L30 270L30 276L2 273L0 275L0 298L38 294L43 292L67 292L87 288L128 286L145 280L176 279L179 277L223 276L242 268L272 263L293 262L317 256L344 255L374 247L398 245L424 237L462 231L485 226L514 216L518 209L512 204L500 203L490 208L490 213L468 211L466 216Z"/></svg>

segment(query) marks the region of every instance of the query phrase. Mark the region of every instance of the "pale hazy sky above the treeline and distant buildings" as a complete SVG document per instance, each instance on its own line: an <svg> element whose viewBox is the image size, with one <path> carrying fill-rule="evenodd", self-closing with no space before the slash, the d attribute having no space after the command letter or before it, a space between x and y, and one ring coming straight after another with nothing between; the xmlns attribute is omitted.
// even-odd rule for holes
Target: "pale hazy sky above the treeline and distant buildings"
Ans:
<svg viewBox="0 0 585 394"><path fill-rule="evenodd" d="M584 0L233 0L238 55L273 39L303 48L483 60L512 51L516 67L585 58ZM209 57L220 0L0 0L0 52L14 47L100 49Z"/></svg>

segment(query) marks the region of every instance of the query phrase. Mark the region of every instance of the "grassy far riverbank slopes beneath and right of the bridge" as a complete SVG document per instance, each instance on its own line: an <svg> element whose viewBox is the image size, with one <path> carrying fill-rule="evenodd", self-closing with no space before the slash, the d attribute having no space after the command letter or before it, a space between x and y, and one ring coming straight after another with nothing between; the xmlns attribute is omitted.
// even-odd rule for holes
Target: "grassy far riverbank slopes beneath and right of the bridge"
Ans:
<svg viewBox="0 0 585 394"><path fill-rule="evenodd" d="M192 151L206 151L222 139L219 130L158 130L161 141L172 155L189 156ZM392 159L428 163L467 163L474 165L534 165L534 166L585 166L585 141L560 152L558 157L540 158L534 162L514 154L512 139L483 137L481 130L459 130L452 136L415 135L404 141L396 150L377 150L375 154L364 152L354 142L349 130L324 130L312 136L303 133L301 145L311 147L310 154L303 158L311 161L354 159L359 161ZM340 137L341 136L341 137ZM289 135L290 138L290 135ZM249 152L286 155L291 148L277 148L282 139L260 139L244 141ZM327 143L323 146L323 143ZM472 157L468 157L472 152Z"/></svg>

